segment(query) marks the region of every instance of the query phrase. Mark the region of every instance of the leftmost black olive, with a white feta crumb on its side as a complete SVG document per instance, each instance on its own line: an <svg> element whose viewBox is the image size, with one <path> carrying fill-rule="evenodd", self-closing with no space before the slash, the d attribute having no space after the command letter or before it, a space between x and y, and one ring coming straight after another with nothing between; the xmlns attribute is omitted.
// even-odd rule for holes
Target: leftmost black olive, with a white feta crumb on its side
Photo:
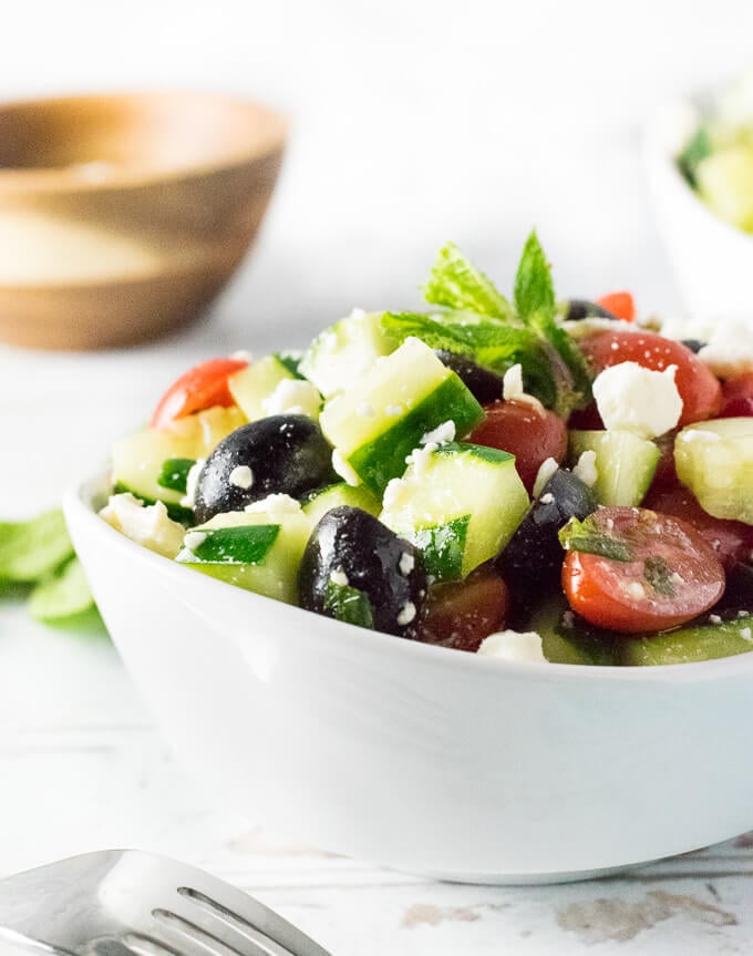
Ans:
<svg viewBox="0 0 753 956"><path fill-rule="evenodd" d="M268 494L298 497L333 477L332 448L312 419L259 419L230 432L206 460L196 485L196 522L241 511Z"/></svg>

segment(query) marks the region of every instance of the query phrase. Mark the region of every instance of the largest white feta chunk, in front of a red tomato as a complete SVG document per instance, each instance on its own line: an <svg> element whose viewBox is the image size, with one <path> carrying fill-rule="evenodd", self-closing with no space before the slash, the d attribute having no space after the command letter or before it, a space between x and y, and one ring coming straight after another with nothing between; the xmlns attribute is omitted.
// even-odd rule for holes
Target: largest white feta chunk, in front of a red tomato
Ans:
<svg viewBox="0 0 753 956"><path fill-rule="evenodd" d="M605 428L642 439L673 429L682 413L675 372L677 366L657 372L638 362L620 362L600 372L594 381L594 398Z"/></svg>

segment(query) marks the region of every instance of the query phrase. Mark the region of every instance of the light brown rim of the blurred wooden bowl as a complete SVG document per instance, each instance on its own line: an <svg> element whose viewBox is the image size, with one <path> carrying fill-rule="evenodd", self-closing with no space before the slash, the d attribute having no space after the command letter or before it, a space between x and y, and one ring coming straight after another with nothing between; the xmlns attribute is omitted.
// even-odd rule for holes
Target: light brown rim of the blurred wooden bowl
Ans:
<svg viewBox="0 0 753 956"><path fill-rule="evenodd" d="M245 109L255 114L264 124L264 135L255 145L227 148L218 152L212 161L200 163L184 163L169 167L151 167L147 165L118 165L109 167L103 179L86 178L81 175L81 165L54 167L0 166L0 195L14 193L92 193L113 189L143 187L165 182L179 182L200 176L212 175L219 171L237 168L252 161L260 161L281 153L289 132L287 117L271 106L244 96L241 94L219 90L192 89L145 89L120 90L112 92L66 93L54 96L32 96L19 100L0 101L0 116L16 111L49 107L75 106L83 103L125 103L173 100L189 103L193 101L215 102L218 105Z"/></svg>

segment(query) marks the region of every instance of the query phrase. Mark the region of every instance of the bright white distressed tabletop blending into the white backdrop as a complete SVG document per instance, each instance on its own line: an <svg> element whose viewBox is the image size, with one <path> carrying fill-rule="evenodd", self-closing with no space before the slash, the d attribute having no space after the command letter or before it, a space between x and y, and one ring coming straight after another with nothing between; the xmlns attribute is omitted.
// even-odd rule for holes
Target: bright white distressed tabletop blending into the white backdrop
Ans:
<svg viewBox="0 0 753 956"><path fill-rule="evenodd" d="M353 305L415 305L450 237L506 287L536 225L563 295L629 287L644 309L677 307L640 123L671 91L741 65L751 28L753 8L733 0L703 17L642 0L6 11L2 96L230 89L285 109L292 137L255 255L202 323L95 356L0 347L3 516L53 504L194 361L301 345ZM12 603L0 606L0 873L103 846L155 850L251 890L334 954L753 946L753 837L525 888L442 885L291 846L213 806L175 765L106 639L35 625Z"/></svg>

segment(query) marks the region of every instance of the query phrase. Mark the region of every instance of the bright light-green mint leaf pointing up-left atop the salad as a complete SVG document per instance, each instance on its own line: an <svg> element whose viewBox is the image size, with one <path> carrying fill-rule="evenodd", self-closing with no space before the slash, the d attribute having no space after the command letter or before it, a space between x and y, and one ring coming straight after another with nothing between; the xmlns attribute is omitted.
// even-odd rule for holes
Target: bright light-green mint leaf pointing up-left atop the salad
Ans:
<svg viewBox="0 0 753 956"><path fill-rule="evenodd" d="M434 306L468 309L479 316L503 320L512 313L507 299L454 243L440 249L423 292L426 301Z"/></svg>

